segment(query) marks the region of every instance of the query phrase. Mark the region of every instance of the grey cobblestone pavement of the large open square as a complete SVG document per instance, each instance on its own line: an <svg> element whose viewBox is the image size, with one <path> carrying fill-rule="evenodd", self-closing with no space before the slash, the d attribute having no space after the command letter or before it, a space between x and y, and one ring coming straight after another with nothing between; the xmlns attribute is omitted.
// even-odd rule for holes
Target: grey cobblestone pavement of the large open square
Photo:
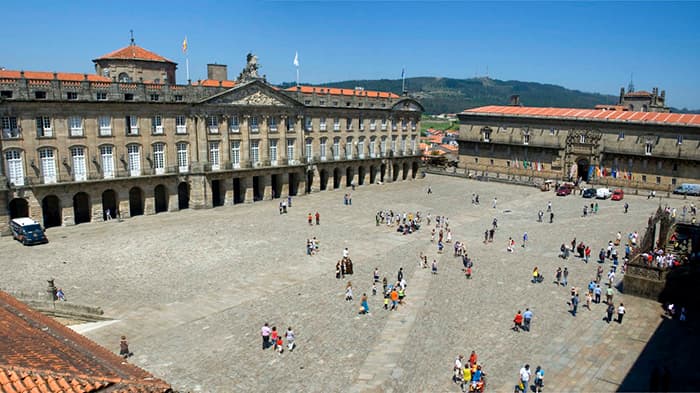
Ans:
<svg viewBox="0 0 700 393"><path fill-rule="evenodd" d="M69 301L100 306L117 320L80 327L88 337L116 352L126 334L131 361L177 389L202 392L457 392L452 362L472 350L490 391L512 391L524 363L545 368L548 391L614 391L660 322L657 303L619 293L615 303L628 309L622 325L602 320L604 304L573 317L569 289L552 283L557 266L569 268L577 287L595 276L595 262L559 259L561 243L576 237L596 255L618 230L641 232L658 200L626 196L629 214L623 202L598 201L600 212L582 218L591 201L579 196L434 175L358 187L352 206L343 205L344 192L295 198L283 216L278 201L265 201L52 228L51 243L38 247L2 238L0 286L41 294L54 277ZM472 192L480 206L470 204ZM548 200L554 223L538 223ZM385 208L447 215L454 239L466 240L475 261L473 279L464 278L451 245L436 254L429 230L401 236L375 226L374 213ZM308 226L306 215L317 210L321 225ZM494 217L495 241L484 244ZM520 244L524 231L527 247L508 253L508 236ZM309 257L304 246L312 236L321 251ZM336 280L344 247L355 274ZM438 259L439 274L418 267L420 252ZM535 265L544 283L530 283ZM407 304L398 311L371 296L375 267L390 281L404 268ZM347 280L354 302L344 301ZM362 292L370 315L357 314ZM534 312L532 331L510 330L526 307ZM297 348L261 350L264 322L291 326Z"/></svg>

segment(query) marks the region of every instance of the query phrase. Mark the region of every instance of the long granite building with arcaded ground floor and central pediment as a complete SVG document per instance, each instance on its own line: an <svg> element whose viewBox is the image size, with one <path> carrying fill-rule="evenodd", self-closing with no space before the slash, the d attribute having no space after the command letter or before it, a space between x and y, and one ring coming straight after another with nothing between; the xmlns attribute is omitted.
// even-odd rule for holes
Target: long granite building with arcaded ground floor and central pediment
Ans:
<svg viewBox="0 0 700 393"><path fill-rule="evenodd" d="M131 44L98 74L0 71L0 231L210 208L418 173L423 107L408 96L239 78L175 84ZM108 217L109 216L109 217Z"/></svg>

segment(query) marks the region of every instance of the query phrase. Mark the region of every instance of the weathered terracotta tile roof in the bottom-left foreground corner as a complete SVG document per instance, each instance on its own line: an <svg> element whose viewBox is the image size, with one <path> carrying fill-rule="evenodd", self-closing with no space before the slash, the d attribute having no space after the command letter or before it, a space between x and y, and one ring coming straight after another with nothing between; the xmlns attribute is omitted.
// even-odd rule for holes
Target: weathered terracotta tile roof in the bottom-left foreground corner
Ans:
<svg viewBox="0 0 700 393"><path fill-rule="evenodd" d="M172 392L57 321L0 291L0 392Z"/></svg>

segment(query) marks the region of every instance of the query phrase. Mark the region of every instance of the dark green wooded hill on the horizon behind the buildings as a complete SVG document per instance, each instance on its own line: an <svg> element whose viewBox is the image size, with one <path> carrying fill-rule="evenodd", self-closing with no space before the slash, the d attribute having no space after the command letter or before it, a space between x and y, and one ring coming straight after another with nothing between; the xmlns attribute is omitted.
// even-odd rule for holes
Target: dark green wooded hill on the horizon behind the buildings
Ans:
<svg viewBox="0 0 700 393"><path fill-rule="evenodd" d="M293 86L293 83L284 83L282 86ZM401 79L350 80L316 86L346 89L361 86L367 90L401 94ZM618 97L613 95L569 90L562 86L536 82L502 81L491 78L408 78L406 89L425 106L426 114L459 113L467 108L478 106L507 105L510 96L515 94L520 95L520 103L525 106L593 108L598 104L616 104L618 101ZM677 112L677 110L673 111Z"/></svg>

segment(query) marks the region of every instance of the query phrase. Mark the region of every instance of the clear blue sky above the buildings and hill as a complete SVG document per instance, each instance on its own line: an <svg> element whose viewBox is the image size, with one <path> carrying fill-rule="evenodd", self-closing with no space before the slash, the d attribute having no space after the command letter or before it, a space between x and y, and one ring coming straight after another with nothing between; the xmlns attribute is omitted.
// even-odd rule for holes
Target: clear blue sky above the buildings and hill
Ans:
<svg viewBox="0 0 700 393"><path fill-rule="evenodd" d="M94 72L92 59L136 43L190 76L207 63L235 78L249 51L272 83L407 77L553 83L617 95L658 86L700 108L698 2L3 1L0 66Z"/></svg>

